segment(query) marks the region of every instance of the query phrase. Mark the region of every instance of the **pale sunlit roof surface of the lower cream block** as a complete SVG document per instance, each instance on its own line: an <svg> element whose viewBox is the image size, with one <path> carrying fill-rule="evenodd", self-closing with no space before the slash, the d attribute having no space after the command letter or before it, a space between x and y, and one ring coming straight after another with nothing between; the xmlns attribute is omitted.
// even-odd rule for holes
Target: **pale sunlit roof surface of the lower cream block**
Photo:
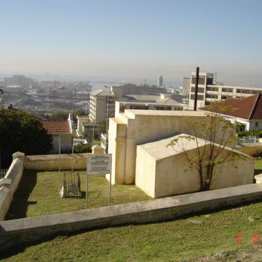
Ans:
<svg viewBox="0 0 262 262"><path fill-rule="evenodd" d="M143 151L146 151L149 155L153 156L156 160L161 158L166 158L168 156L173 156L175 154L181 154L184 151L182 147L186 150L196 149L196 141L195 140L187 140L186 138L181 138L179 142L175 146L167 145L171 142L172 139L178 138L180 136L188 137L189 135L183 133L177 133L173 137L168 137L166 139L161 139L156 142L146 143L139 145ZM189 136L192 137L192 136ZM199 146L204 146L205 142L202 139L198 139Z"/></svg>

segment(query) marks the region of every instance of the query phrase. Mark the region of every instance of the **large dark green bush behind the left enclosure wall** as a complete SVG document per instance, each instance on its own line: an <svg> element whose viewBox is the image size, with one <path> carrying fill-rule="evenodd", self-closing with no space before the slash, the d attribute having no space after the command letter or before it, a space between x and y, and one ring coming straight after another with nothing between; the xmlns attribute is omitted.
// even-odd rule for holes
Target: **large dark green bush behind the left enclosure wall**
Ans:
<svg viewBox="0 0 262 262"><path fill-rule="evenodd" d="M26 155L49 153L52 137L42 123L22 110L0 109L0 163L8 168L12 154L21 151Z"/></svg>

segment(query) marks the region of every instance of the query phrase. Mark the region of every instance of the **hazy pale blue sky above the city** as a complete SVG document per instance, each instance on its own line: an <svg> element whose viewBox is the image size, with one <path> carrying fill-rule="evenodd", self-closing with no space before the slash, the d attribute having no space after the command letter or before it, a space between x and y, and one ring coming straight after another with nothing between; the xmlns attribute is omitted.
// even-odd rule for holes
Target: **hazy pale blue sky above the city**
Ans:
<svg viewBox="0 0 262 262"><path fill-rule="evenodd" d="M0 74L262 87L262 1L2 1Z"/></svg>

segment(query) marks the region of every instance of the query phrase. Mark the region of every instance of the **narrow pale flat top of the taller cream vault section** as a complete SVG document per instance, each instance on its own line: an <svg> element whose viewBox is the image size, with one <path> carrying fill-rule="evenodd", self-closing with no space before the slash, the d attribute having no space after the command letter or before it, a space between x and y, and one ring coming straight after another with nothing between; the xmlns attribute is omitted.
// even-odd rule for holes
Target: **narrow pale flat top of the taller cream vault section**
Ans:
<svg viewBox="0 0 262 262"><path fill-rule="evenodd" d="M164 111L164 110L137 110L125 109L125 112L135 115L143 116L206 116L203 111Z"/></svg>

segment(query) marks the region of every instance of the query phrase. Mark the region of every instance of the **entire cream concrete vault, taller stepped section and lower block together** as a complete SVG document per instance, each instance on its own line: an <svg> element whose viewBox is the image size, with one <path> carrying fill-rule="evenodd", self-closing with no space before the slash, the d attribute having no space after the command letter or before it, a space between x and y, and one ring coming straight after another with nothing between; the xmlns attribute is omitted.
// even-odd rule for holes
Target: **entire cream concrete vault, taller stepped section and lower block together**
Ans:
<svg viewBox="0 0 262 262"><path fill-rule="evenodd" d="M185 174L183 170L188 163L182 154L166 148L171 138L163 138L177 134L194 135L192 125L189 125L190 119L206 120L206 114L201 111L125 110L125 113L119 113L117 118L110 118L108 153L113 155L112 183L135 184L152 197L198 191L200 184L196 175ZM194 149L195 146L192 145L189 151L193 154ZM245 175L228 165L226 169L229 172L223 173L221 179L214 180L216 182L212 189L252 183L254 160L249 156L246 159L245 162L238 163L245 165ZM172 164L177 161L183 166L180 169ZM234 171L230 168L234 168ZM177 175L171 175L174 169ZM177 170L180 170L180 174ZM228 173L232 172L236 173L236 177L229 179ZM223 177L227 177L227 183L223 181ZM177 183L171 183L170 180L177 180Z"/></svg>

